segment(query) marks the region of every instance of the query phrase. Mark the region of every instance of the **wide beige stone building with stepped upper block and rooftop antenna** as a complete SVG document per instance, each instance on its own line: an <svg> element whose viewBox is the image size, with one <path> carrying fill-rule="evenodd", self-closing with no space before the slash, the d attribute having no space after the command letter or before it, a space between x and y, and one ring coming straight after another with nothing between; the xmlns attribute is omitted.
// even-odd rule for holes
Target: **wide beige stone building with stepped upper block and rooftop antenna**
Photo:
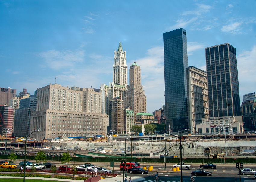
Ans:
<svg viewBox="0 0 256 182"><path fill-rule="evenodd" d="M93 136L106 132L107 123L108 116L101 113L99 89L50 84L37 90L30 131L40 128L40 139Z"/></svg>

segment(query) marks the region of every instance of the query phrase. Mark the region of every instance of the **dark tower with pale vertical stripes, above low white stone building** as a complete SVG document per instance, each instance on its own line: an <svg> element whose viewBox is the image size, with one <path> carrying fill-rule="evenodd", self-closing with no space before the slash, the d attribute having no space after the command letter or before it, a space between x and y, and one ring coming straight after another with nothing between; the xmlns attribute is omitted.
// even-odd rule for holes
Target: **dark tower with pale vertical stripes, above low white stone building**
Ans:
<svg viewBox="0 0 256 182"><path fill-rule="evenodd" d="M236 48L229 43L205 48L209 117L239 116Z"/></svg>

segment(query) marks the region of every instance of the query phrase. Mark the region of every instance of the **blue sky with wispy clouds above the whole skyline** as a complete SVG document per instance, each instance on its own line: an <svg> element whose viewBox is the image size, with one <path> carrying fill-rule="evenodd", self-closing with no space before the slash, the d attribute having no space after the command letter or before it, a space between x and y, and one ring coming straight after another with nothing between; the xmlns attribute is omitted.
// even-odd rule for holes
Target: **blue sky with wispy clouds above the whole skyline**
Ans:
<svg viewBox="0 0 256 182"><path fill-rule="evenodd" d="M100 88L112 81L119 41L141 67L147 112L164 103L163 33L187 31L188 63L205 70L204 48L236 48L240 101L256 91L256 1L0 1L0 87L54 83ZM129 84L129 83L128 83Z"/></svg>

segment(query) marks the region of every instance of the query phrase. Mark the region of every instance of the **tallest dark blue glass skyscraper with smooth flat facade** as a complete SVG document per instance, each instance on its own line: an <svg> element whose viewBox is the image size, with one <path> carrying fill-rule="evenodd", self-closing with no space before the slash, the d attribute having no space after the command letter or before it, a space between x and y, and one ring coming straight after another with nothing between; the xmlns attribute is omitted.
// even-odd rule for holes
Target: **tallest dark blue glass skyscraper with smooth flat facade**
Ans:
<svg viewBox="0 0 256 182"><path fill-rule="evenodd" d="M186 30L164 33L165 119L173 132L188 129Z"/></svg>

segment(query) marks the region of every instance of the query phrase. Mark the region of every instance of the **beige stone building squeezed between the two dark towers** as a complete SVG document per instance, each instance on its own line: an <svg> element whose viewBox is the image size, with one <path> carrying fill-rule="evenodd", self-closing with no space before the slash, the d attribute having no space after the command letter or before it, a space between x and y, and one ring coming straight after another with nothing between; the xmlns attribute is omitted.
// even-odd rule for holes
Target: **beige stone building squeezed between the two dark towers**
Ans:
<svg viewBox="0 0 256 182"><path fill-rule="evenodd" d="M189 131L196 132L196 125L202 123L202 118L209 117L207 73L194 66L187 68Z"/></svg>

